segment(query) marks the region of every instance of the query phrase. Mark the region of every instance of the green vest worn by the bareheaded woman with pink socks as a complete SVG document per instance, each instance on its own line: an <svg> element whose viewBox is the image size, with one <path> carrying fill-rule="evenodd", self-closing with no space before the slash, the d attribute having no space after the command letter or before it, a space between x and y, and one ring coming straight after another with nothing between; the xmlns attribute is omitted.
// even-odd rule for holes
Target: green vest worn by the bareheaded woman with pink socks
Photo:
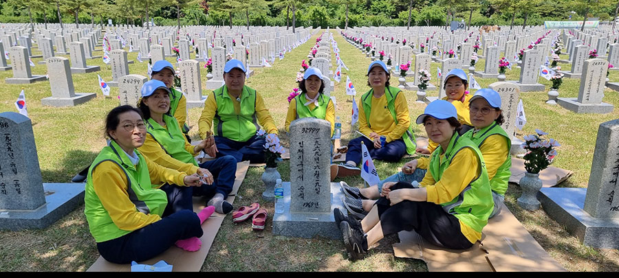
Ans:
<svg viewBox="0 0 619 278"><path fill-rule="evenodd" d="M164 209L168 203L166 192L161 189L153 188L151 185L151 177L149 176L149 168L146 166L144 157L138 150L135 150L140 162L138 165L133 165L124 153L122 148L118 146L116 141L110 141L109 145L96 157L90 168L88 169L88 179L85 188L84 202L86 220L90 233L95 238L96 242L106 242L115 238L120 238L132 231L126 231L118 228L111 220L109 213L103 207L101 200L94 191L92 184L92 172L103 161L112 161L122 169L127 176L127 194L129 200L133 202L138 211L145 214L157 214L162 216ZM109 185L114 186L114 185ZM119 196L122 198L122 196Z"/></svg>

